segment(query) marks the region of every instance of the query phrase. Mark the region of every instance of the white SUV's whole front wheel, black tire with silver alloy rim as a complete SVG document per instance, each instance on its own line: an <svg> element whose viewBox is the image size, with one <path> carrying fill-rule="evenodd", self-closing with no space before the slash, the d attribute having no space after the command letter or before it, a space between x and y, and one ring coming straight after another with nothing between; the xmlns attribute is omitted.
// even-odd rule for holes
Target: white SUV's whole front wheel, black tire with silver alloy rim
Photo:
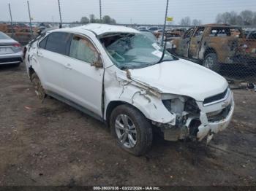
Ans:
<svg viewBox="0 0 256 191"><path fill-rule="evenodd" d="M110 116L110 130L118 145L132 155L143 155L152 144L152 127L148 119L132 106L117 106Z"/></svg>

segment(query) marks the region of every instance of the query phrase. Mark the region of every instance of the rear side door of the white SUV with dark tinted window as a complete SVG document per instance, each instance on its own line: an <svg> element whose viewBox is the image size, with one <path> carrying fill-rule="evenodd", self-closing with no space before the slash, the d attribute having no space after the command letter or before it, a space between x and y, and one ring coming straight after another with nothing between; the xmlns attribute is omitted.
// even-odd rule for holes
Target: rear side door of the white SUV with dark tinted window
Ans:
<svg viewBox="0 0 256 191"><path fill-rule="evenodd" d="M72 34L53 32L39 42L37 61L39 78L46 90L62 95L64 93L64 69L69 54Z"/></svg>

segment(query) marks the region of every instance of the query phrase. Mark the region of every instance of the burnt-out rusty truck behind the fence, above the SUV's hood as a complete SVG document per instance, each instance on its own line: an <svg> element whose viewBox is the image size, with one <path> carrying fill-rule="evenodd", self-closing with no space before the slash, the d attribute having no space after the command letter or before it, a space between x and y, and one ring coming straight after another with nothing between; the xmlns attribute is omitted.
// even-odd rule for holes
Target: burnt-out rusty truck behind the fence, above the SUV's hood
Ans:
<svg viewBox="0 0 256 191"><path fill-rule="evenodd" d="M241 28L227 25L205 25L189 28L181 38L171 41L172 53L201 63L219 72L223 64L238 60L238 47L243 47Z"/></svg>

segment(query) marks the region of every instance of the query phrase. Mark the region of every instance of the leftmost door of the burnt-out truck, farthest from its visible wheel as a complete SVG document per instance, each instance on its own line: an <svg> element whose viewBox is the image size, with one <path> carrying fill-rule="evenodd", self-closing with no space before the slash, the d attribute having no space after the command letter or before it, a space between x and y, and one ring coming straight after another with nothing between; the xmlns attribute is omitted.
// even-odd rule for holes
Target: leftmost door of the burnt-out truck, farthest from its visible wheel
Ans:
<svg viewBox="0 0 256 191"><path fill-rule="evenodd" d="M188 31L182 36L181 42L178 46L178 54L184 57L189 56L189 42L195 28L189 28Z"/></svg>

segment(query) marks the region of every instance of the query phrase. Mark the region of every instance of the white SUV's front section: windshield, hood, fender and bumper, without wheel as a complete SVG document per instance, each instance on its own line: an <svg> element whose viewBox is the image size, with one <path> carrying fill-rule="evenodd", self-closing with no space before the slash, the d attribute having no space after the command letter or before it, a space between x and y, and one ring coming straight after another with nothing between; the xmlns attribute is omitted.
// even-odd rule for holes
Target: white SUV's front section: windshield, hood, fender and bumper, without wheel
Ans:
<svg viewBox="0 0 256 191"><path fill-rule="evenodd" d="M227 127L234 104L224 78L168 52L159 62L162 47L140 33L110 33L99 36L99 41L113 63L105 69L105 119L112 103L129 104L168 141L201 141L206 136L210 140Z"/></svg>

